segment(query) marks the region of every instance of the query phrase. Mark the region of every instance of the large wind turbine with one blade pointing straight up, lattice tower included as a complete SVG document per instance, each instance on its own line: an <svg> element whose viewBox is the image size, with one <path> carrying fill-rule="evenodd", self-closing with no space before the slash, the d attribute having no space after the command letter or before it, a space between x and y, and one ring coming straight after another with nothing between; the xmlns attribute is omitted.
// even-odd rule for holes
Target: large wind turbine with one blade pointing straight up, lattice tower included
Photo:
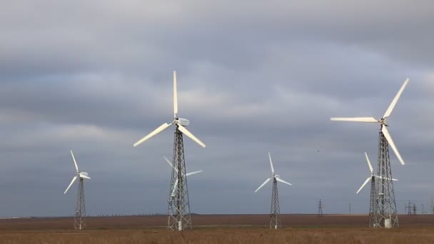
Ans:
<svg viewBox="0 0 434 244"><path fill-rule="evenodd" d="M147 136L141 138L133 144L134 147L140 145L149 138L155 136L161 131L166 130L171 125L176 126L173 143L173 163L171 178L171 192L176 188L175 195L169 195L168 200L168 229L169 230L185 230L192 228L190 215L190 201L188 200L187 176L186 176L186 161L184 159L183 134L191 138L205 148L205 144L196 136L186 129L185 126L190 124L186 118L178 117L178 92L176 91L176 71L173 71L173 121L171 123L163 123ZM175 186L176 185L176 186Z"/></svg>

